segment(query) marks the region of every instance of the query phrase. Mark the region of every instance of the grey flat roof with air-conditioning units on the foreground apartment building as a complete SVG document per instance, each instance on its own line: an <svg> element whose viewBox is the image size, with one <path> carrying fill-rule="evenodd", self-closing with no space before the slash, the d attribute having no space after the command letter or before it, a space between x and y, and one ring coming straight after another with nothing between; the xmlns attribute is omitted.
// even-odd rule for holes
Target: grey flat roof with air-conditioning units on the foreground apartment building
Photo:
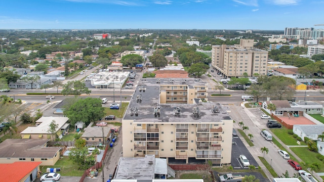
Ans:
<svg viewBox="0 0 324 182"><path fill-rule="evenodd" d="M156 83L157 78L142 79L136 87L135 93L130 101L129 107L124 115L124 119L134 120L134 122L221 122L221 120L231 120L227 111L229 108L219 103L198 103L198 104L159 104L160 85L205 85L200 79L189 78L186 83L182 83L183 79L172 78L174 83L170 83L170 79L160 78L160 83ZM140 92L140 88L142 92ZM143 92L145 89L145 92ZM163 92L161 90L161 92ZM137 102L137 98L142 98L142 102ZM154 107L160 107L159 117L153 114ZM178 112L177 107L180 109ZM200 114L195 117L193 109L198 107ZM176 113L174 114L174 109ZM217 108L217 109L215 109ZM135 111L137 109L137 111ZM135 113L138 113L136 116Z"/></svg>

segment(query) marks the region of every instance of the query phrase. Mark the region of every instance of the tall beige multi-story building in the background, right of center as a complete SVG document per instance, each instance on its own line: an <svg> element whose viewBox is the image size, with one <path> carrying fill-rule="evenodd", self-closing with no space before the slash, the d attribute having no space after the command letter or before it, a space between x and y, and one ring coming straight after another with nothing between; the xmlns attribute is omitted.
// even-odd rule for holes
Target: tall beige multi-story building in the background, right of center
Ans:
<svg viewBox="0 0 324 182"><path fill-rule="evenodd" d="M213 45L212 67L224 77L267 74L268 51L253 48L253 39L240 39L238 45Z"/></svg>

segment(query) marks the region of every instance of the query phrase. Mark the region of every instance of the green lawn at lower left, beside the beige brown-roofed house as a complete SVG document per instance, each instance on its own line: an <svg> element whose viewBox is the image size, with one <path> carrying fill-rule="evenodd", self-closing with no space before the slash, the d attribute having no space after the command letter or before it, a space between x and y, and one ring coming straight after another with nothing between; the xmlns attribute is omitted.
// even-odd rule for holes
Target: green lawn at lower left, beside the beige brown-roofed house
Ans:
<svg viewBox="0 0 324 182"><path fill-rule="evenodd" d="M62 158L63 157L63 158ZM82 176L85 170L77 170L78 165L73 164L72 161L68 160L68 156L61 156L54 166L39 166L42 172L46 172L47 168L61 168L58 172L62 176Z"/></svg>

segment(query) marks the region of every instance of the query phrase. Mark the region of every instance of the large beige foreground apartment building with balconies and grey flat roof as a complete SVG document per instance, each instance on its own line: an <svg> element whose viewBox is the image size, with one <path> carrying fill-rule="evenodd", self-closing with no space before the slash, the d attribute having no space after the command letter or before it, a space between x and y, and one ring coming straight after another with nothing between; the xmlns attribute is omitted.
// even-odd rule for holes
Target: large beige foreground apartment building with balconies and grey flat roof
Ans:
<svg viewBox="0 0 324 182"><path fill-rule="evenodd" d="M229 164L233 120L228 108L201 101L197 94L206 90L206 83L195 78L142 79L123 118L124 157Z"/></svg>

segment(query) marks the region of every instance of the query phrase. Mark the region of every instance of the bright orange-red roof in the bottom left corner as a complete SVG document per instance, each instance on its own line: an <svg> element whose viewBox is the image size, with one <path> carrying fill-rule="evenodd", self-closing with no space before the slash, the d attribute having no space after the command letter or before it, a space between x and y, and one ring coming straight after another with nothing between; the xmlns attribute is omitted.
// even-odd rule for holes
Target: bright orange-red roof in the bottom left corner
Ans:
<svg viewBox="0 0 324 182"><path fill-rule="evenodd" d="M0 182L18 182L41 163L42 162L14 162L11 164L0 164Z"/></svg>

